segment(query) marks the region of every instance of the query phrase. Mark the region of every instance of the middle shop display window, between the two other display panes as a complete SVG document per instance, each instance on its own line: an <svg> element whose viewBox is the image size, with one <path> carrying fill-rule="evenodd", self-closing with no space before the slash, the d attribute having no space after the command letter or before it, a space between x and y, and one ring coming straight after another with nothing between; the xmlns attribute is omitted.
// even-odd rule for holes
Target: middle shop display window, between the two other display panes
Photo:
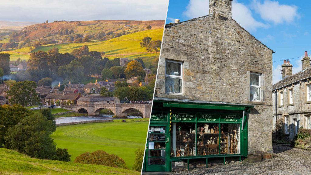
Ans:
<svg viewBox="0 0 311 175"><path fill-rule="evenodd" d="M197 124L197 155L210 155L219 153L219 134L217 123Z"/></svg>

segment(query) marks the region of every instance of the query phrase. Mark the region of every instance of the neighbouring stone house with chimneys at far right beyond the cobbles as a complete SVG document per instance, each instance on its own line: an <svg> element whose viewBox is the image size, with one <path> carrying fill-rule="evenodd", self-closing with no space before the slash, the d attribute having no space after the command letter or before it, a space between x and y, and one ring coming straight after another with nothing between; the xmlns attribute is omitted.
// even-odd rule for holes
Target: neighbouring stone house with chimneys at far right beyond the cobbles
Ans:
<svg viewBox="0 0 311 175"><path fill-rule="evenodd" d="M311 129L311 68L307 51L301 61L302 71L292 74L292 64L284 60L282 80L273 85L273 130L277 123L281 124L281 137L287 141L295 139L299 127Z"/></svg>

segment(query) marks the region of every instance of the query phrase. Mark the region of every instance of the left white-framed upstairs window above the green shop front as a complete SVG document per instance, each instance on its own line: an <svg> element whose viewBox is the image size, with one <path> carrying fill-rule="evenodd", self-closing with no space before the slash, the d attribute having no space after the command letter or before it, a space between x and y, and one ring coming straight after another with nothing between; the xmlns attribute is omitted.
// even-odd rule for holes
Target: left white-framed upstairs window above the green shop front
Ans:
<svg viewBox="0 0 311 175"><path fill-rule="evenodd" d="M183 93L183 62L165 61L165 93Z"/></svg>

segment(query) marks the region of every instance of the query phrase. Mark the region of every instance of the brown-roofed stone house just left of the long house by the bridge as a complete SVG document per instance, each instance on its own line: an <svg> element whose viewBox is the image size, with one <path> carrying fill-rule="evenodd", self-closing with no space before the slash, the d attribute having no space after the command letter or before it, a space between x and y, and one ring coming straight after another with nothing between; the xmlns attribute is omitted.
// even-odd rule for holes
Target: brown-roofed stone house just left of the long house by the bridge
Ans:
<svg viewBox="0 0 311 175"><path fill-rule="evenodd" d="M52 102L55 102L59 100L60 104L63 104L64 102L71 102L71 104L76 105L77 100L81 97L79 93L51 93L48 96L45 97L45 103L49 105L53 105Z"/></svg>

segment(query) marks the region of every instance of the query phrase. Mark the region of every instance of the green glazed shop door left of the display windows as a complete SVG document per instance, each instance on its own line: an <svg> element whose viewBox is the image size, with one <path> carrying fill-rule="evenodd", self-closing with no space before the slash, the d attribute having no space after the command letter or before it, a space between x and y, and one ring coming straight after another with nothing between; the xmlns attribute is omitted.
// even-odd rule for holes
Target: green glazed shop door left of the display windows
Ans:
<svg viewBox="0 0 311 175"><path fill-rule="evenodd" d="M146 145L146 172L169 171L169 128L165 124L150 124Z"/></svg>

